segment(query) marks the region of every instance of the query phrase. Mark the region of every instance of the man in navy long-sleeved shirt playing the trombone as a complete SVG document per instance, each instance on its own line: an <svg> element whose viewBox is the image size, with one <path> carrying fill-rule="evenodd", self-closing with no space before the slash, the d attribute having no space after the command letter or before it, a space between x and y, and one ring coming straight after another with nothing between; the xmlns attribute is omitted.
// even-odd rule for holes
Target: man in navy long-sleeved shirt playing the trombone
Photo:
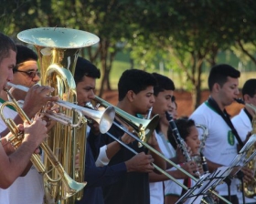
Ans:
<svg viewBox="0 0 256 204"><path fill-rule="evenodd" d="M75 82L77 85L78 105L84 107L87 102L94 98L96 78L101 77L100 70L88 60L79 57L75 70ZM84 178L87 181L83 189L83 198L78 203L103 204L101 187L110 185L122 178L127 172L153 170L150 163L153 159L144 154L133 155L131 158L122 160L110 166L96 167L95 160L100 150L100 137L98 124L90 123L91 131L87 138L86 160ZM124 134L121 138L124 143L130 142L130 136ZM121 149L116 141L109 144L108 149ZM105 148L104 148L105 149Z"/></svg>

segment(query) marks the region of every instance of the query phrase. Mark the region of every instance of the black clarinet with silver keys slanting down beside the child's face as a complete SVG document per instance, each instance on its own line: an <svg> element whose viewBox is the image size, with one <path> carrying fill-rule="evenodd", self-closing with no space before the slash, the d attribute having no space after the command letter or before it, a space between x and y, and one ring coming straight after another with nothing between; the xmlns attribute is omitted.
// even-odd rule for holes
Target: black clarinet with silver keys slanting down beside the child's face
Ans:
<svg viewBox="0 0 256 204"><path fill-rule="evenodd" d="M187 152L186 144L183 138L181 138L177 128L176 128L176 123L173 119L173 117L168 114L168 112L165 112L166 118L169 122L170 127L172 128L173 136L176 139L176 144L181 148L182 154L186 158L186 161L191 161L191 157L189 153Z"/></svg>

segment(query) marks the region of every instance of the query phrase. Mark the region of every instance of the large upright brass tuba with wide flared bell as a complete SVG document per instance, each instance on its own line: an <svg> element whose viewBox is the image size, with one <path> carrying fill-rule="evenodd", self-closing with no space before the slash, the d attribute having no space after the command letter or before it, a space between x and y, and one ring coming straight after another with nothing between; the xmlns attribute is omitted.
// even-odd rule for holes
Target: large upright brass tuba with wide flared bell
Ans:
<svg viewBox="0 0 256 204"><path fill-rule="evenodd" d="M76 84L73 78L80 48L91 46L99 42L99 37L91 33L60 27L41 27L28 29L17 35L18 39L27 44L32 44L37 50L39 68L41 72L41 85L54 87L54 96L59 96L64 101L76 103ZM69 108L59 107L60 112L69 116L74 123L80 116ZM86 147L86 121L74 128L57 123L48 133L46 141L54 155L59 159L65 171L72 179L84 181L84 160ZM80 167L75 166L76 155L80 155ZM56 182L44 179L47 202L74 203L81 199L82 193L76 197L63 200L63 183L58 171L44 158L44 165L48 175Z"/></svg>

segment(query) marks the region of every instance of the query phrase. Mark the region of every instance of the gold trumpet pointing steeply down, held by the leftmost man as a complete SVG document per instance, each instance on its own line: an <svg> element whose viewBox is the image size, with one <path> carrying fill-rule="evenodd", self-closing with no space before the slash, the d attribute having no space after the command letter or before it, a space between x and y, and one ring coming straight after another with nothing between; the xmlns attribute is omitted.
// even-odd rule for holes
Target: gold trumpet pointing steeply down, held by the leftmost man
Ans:
<svg viewBox="0 0 256 204"><path fill-rule="evenodd" d="M6 107L8 105L15 107L19 117L21 117L23 119L23 121L27 120L27 122L29 124L31 124L31 120L27 117L27 115L23 111L23 109L18 106L15 98L12 97L10 92L7 89L5 89L5 91L6 91L7 95L9 97L11 97L12 101L6 101L0 107L0 116L2 117L3 121L5 122L7 128L9 128L10 131L14 135L13 137L11 137L9 139L9 141L15 148L18 148L22 142L22 138L23 138L21 136L22 133L16 127L14 120L12 120L10 118L5 118L4 107ZM83 189L86 186L86 182L79 183L69 177L69 175L65 172L64 168L59 163L59 160L55 157L55 155L53 154L51 149L48 147L48 145L44 141L41 143L40 147L44 150L45 155L48 157L48 159L51 162L51 164L53 165L53 167L55 169L57 169L57 171L59 173L59 179L54 180L54 179L49 178L47 169L42 164L40 158L36 154L33 154L30 160L33 163L33 165L37 168L37 171L39 173L42 173L44 175L44 177L46 177L49 180L49 182L56 183L56 182L59 182L59 180L62 181L62 184L63 184L63 194L61 195L62 199L68 199L69 197L73 196L74 194L76 194L77 192L79 192L81 189Z"/></svg>

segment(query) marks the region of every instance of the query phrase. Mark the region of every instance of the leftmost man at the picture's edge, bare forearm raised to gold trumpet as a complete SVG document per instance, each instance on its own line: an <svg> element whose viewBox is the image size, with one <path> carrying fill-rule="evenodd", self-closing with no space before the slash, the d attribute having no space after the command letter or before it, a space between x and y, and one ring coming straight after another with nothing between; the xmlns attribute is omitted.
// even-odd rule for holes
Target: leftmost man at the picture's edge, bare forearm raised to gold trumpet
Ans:
<svg viewBox="0 0 256 204"><path fill-rule="evenodd" d="M13 79L13 68L16 66L16 45L4 34L0 33L0 87L3 89L7 81ZM2 90L3 91L3 90ZM2 92L1 91L1 92ZM27 103L28 104L28 103ZM27 106L27 105L26 105ZM26 107L27 108L27 107ZM32 107L31 107L32 108ZM33 107L34 108L34 107ZM31 125L27 122L20 126L24 130L24 139L16 152L6 155L7 138L1 133L0 145L0 188L8 188L27 167L29 159L38 145L47 138L46 122L37 118ZM9 135L7 136L9 137Z"/></svg>

